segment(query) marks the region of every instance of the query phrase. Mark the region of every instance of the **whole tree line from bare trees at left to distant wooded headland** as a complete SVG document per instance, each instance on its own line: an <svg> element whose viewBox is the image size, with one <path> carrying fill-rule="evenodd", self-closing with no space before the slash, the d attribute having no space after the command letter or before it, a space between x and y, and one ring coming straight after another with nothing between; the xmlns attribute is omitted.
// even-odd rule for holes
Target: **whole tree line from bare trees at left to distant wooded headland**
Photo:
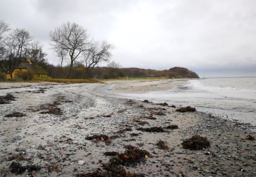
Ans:
<svg viewBox="0 0 256 177"><path fill-rule="evenodd" d="M10 29L0 21L0 74L12 71L31 58L32 63L43 67L52 78L121 78L121 77L169 77L198 78L186 68L174 67L169 70L121 68L110 62L113 45L106 41L95 42L87 29L76 23L66 22L49 33L49 41L59 65L48 63L42 44L35 40L27 29ZM69 63L63 66L63 61ZM106 67L99 63L107 62ZM0 75L1 79L1 75Z"/></svg>

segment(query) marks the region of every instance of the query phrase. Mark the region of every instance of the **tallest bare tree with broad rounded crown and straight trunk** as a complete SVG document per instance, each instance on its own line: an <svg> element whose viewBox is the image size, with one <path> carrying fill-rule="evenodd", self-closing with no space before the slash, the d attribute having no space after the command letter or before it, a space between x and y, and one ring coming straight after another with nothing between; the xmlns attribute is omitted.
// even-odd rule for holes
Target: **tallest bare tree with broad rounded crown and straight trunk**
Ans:
<svg viewBox="0 0 256 177"><path fill-rule="evenodd" d="M50 32L50 38L55 52L62 51L70 57L70 69L67 78L70 78L74 61L82 52L89 48L87 31L76 23L67 22Z"/></svg>

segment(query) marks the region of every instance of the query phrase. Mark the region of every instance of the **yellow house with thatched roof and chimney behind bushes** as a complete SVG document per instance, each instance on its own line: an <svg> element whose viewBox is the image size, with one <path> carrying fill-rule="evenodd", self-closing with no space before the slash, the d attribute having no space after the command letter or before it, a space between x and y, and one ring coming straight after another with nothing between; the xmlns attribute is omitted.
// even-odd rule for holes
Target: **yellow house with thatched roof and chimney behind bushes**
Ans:
<svg viewBox="0 0 256 177"><path fill-rule="evenodd" d="M16 80L18 74L32 74L33 78L45 78L47 72L40 65L32 64L31 59L27 58L26 63L20 63L18 67L12 71L12 79Z"/></svg>

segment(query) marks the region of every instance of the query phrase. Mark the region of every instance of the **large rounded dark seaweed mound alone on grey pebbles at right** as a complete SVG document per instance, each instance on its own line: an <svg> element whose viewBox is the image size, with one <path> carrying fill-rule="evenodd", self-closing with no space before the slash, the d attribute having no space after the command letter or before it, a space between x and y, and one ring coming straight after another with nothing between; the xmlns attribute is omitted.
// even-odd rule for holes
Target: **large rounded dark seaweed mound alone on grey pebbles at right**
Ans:
<svg viewBox="0 0 256 177"><path fill-rule="evenodd" d="M208 138L201 137L200 135L193 135L192 138L188 138L182 142L183 148L190 150L200 150L203 148L208 148L210 146L210 142Z"/></svg>

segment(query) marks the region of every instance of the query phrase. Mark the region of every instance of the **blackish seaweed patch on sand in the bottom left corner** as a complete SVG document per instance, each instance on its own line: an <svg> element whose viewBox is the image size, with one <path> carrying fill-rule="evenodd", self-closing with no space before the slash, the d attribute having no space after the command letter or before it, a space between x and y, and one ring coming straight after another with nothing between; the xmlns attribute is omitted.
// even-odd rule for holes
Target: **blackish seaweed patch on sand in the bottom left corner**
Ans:
<svg viewBox="0 0 256 177"><path fill-rule="evenodd" d="M10 172L12 174L23 174L26 170L27 172L38 172L42 167L38 165L21 165L20 163L13 161L10 165Z"/></svg>

